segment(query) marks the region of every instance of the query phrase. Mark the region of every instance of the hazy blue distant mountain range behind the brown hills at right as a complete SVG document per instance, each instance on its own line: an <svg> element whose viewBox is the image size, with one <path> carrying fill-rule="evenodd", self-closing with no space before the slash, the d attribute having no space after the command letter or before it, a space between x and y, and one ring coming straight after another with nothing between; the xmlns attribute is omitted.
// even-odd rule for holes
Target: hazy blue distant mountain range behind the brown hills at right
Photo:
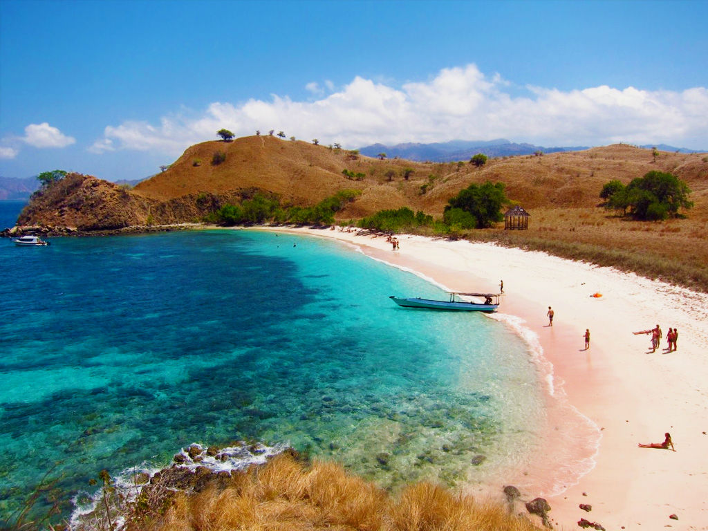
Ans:
<svg viewBox="0 0 708 531"><path fill-rule="evenodd" d="M657 144L656 146L640 146L647 149L656 147L661 151L680 152L680 153L695 153L691 149L678 148L667 146L666 144ZM372 144L362 147L359 152L366 156L378 156L379 153L385 153L387 159L406 159L411 161L431 161L431 162L450 162L450 161L467 161L477 153L483 153L486 156L514 156L514 155L530 155L535 152L556 153L556 152L577 152L583 149L590 149L588 146L571 146L571 147L542 147L534 144L517 144L510 142L507 139L495 140L450 140L450 142L434 142L432 144L418 144L408 142L406 144L396 144L387 146L384 144Z"/></svg>

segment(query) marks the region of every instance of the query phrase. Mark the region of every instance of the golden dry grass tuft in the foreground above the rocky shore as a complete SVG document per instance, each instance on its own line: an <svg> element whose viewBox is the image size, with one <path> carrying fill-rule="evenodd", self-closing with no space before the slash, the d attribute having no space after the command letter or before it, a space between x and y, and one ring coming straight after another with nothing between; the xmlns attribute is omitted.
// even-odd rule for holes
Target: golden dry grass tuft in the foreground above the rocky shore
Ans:
<svg viewBox="0 0 708 531"><path fill-rule="evenodd" d="M280 455L233 474L223 489L179 493L163 515L130 531L537 531L508 513L428 483L392 498L338 464L306 467Z"/></svg>

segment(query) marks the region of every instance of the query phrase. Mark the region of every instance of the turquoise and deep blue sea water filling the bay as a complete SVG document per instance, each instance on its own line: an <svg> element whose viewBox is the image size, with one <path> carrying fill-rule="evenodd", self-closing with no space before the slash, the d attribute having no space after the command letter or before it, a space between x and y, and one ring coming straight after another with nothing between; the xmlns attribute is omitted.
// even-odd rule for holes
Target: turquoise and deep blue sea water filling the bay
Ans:
<svg viewBox="0 0 708 531"><path fill-rule="evenodd" d="M0 202L0 226L22 206ZM39 484L33 513L58 500L75 520L101 470L193 443L292 447L389 491L485 481L538 449L530 346L485 314L397 307L445 292L353 246L251 229L50 243L0 239L5 524Z"/></svg>

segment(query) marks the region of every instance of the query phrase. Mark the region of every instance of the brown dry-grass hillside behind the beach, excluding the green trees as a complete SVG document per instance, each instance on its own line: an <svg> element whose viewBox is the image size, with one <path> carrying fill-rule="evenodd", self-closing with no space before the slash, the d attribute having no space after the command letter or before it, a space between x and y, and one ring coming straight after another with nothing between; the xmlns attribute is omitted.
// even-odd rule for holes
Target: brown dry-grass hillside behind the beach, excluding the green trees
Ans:
<svg viewBox="0 0 708 531"><path fill-rule="evenodd" d="M226 160L213 166L209 161L217 151L224 152ZM343 169L364 178L348 180ZM406 169L413 170L408 179ZM652 170L671 172L689 185L695 206L685 212L687 217L636 222L600 206L600 190L607 181L627 184ZM506 185L508 198L530 212L530 229L476 230L463 237L548 251L708 292L704 153L658 152L654 157L651 149L615 144L582 152L491 159L476 169L468 163L379 160L307 142L244 137L190 147L169 170L140 183L134 193L165 199L253 187L278 193L284 202L314 205L338 190L356 188L362 191L360 197L338 213L338 221L347 223L404 206L441 217L447 200L459 190L485 181Z"/></svg>

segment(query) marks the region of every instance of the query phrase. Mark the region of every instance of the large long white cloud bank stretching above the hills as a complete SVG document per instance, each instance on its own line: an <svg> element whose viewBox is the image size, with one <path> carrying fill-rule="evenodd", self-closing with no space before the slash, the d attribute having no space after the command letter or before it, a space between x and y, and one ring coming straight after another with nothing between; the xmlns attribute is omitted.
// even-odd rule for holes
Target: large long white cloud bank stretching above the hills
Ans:
<svg viewBox="0 0 708 531"><path fill-rule="evenodd" d="M222 127L237 136L283 130L346 147L500 137L548 147L620 140L708 147L705 87L677 92L631 86L573 91L527 86L518 96L500 74L486 76L474 64L442 69L427 81L401 86L360 76L337 91L331 81L323 85L307 84L314 101L272 95L270 101L215 102L201 116L170 115L159 125L108 126L91 149L154 150L176 156L195 142L216 139Z"/></svg>

